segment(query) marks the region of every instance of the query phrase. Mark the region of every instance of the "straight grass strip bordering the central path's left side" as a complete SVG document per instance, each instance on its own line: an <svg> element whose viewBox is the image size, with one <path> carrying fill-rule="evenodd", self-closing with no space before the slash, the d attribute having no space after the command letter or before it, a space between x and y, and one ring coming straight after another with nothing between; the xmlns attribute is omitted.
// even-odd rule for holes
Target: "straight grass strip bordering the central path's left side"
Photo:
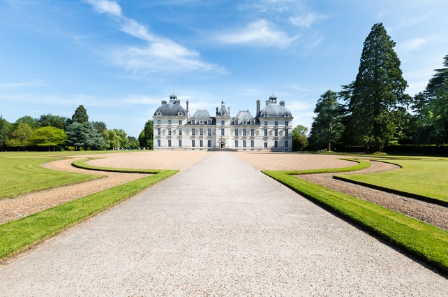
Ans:
<svg viewBox="0 0 448 297"><path fill-rule="evenodd" d="M68 201L54 208L0 225L0 261L47 238L57 235L74 224L96 215L134 196L179 171L158 171L133 182L120 184L97 193Z"/></svg>

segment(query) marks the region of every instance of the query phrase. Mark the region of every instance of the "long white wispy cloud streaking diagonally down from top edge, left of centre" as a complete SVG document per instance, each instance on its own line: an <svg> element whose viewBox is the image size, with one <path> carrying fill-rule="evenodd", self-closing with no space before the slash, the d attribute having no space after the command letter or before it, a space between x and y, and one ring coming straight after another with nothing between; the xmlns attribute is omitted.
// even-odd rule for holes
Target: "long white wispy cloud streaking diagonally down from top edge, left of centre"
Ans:
<svg viewBox="0 0 448 297"><path fill-rule="evenodd" d="M123 46L103 51L114 64L124 66L134 73L181 73L188 71L215 71L227 74L223 66L209 64L200 59L200 54L188 49L169 38L152 34L147 26L137 20L123 15L117 1L88 0L98 13L112 15L121 25L120 30L126 34L147 41L143 47Z"/></svg>

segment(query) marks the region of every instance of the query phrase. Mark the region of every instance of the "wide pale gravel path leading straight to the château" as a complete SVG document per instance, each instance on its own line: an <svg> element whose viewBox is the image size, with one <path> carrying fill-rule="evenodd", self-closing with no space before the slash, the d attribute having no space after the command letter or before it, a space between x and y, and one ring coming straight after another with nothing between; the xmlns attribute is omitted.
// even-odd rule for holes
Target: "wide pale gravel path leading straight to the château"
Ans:
<svg viewBox="0 0 448 297"><path fill-rule="evenodd" d="M448 280L216 152L0 270L0 296L447 296Z"/></svg>

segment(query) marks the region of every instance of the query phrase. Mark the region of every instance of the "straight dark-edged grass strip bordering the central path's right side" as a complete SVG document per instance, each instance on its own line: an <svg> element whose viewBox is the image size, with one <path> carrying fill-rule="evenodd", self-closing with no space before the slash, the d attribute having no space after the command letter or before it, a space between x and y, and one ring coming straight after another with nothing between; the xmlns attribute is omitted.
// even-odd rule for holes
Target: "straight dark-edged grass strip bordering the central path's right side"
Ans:
<svg viewBox="0 0 448 297"><path fill-rule="evenodd" d="M295 178L281 171L262 171L324 208L375 233L422 261L448 272L448 232L380 205Z"/></svg>

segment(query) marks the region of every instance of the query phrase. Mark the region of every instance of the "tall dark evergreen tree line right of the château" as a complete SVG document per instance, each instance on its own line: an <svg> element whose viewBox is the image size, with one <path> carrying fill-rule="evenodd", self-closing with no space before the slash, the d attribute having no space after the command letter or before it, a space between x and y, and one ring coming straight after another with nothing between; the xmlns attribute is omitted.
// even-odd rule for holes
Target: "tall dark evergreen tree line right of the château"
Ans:
<svg viewBox="0 0 448 297"><path fill-rule="evenodd" d="M377 152L385 145L448 144L448 55L424 91L412 97L404 93L408 83L395 45L382 23L373 25L355 80L320 96L308 137L306 127L294 128L293 150L362 145Z"/></svg>

